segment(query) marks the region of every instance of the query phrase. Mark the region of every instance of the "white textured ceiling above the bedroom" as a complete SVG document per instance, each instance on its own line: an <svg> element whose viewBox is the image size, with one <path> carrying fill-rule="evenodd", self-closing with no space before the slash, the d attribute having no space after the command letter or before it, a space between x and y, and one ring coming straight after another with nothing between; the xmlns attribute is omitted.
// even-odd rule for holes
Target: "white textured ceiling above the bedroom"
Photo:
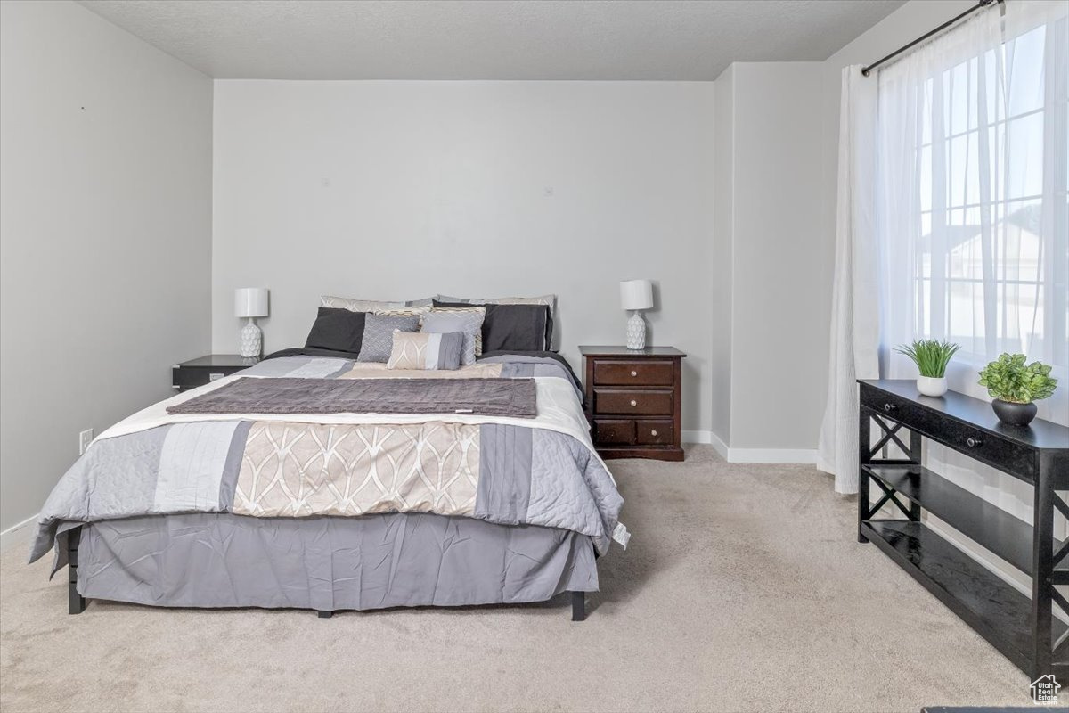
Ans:
<svg viewBox="0 0 1069 713"><path fill-rule="evenodd" d="M81 0L243 79L710 80L824 60L902 0Z"/></svg>

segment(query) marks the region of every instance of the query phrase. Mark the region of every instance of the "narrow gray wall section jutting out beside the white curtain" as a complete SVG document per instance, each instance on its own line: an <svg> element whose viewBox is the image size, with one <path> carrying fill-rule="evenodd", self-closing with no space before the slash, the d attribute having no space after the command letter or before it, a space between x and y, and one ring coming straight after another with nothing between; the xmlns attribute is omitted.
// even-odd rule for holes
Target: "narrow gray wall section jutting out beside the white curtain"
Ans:
<svg viewBox="0 0 1069 713"><path fill-rule="evenodd" d="M821 231L821 65L739 62L715 83L725 102L713 259L730 265L716 274L731 295L727 315L713 315L715 338L730 342L714 376L730 383L713 396L717 409L730 400L717 435L732 451L809 451L824 408L834 246Z"/></svg>

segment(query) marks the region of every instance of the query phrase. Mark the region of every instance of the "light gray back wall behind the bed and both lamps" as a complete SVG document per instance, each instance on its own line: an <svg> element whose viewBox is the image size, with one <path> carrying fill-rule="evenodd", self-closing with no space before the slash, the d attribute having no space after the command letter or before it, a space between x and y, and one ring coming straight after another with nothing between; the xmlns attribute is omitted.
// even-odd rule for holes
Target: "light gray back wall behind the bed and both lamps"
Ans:
<svg viewBox="0 0 1069 713"><path fill-rule="evenodd" d="M659 282L685 351L683 429L710 429L710 82L215 82L213 344L233 290L272 290L265 348L319 295L559 295L563 354L620 344L618 282ZM553 195L547 196L547 190Z"/></svg>

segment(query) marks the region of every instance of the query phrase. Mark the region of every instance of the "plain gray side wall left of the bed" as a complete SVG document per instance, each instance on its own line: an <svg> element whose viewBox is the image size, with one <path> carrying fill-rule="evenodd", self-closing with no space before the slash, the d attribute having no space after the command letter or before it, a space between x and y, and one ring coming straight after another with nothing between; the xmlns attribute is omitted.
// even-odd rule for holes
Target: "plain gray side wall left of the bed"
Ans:
<svg viewBox="0 0 1069 713"><path fill-rule="evenodd" d="M212 80L73 2L0 3L0 530L211 346Z"/></svg>

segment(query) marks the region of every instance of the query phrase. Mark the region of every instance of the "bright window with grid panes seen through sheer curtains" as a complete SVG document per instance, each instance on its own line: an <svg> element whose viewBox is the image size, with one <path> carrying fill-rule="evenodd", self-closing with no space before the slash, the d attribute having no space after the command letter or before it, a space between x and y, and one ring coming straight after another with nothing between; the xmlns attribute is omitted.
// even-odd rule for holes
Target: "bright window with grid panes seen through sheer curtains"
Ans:
<svg viewBox="0 0 1069 713"><path fill-rule="evenodd" d="M913 332L974 363L1069 366L1064 30L1039 25L914 86Z"/></svg>

